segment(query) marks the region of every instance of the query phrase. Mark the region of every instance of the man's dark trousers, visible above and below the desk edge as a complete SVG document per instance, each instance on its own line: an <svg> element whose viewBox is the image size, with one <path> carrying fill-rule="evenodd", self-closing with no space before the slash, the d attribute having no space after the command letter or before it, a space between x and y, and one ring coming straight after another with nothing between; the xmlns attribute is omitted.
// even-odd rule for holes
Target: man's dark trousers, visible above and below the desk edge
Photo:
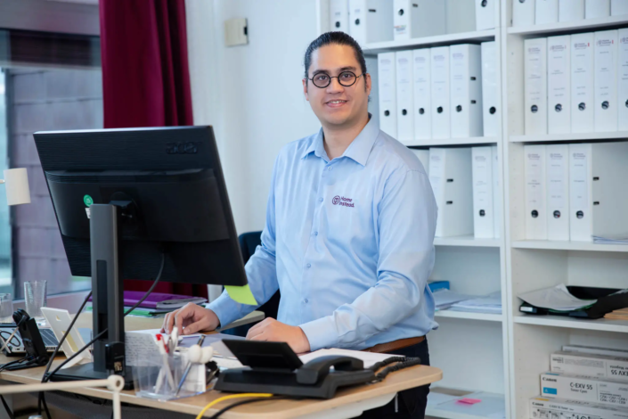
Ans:
<svg viewBox="0 0 628 419"><path fill-rule="evenodd" d="M390 353L391 355L404 355L406 357L420 357L420 363L429 365L428 338L416 345L399 349ZM396 398L390 403L376 409L367 410L360 418L380 419L380 418L408 418L423 419L425 417L425 407L428 406L429 385L415 387L414 389L399 391Z"/></svg>

